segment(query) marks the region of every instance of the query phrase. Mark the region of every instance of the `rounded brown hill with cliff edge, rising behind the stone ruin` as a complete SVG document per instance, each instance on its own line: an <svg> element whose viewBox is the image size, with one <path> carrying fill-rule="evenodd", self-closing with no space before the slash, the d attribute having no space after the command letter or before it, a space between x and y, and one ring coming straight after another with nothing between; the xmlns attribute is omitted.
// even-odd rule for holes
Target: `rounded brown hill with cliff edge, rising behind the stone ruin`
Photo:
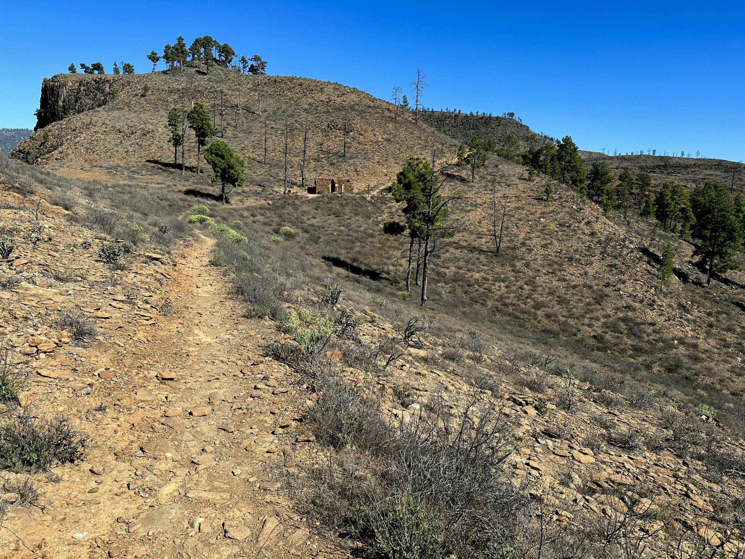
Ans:
<svg viewBox="0 0 745 559"><path fill-rule="evenodd" d="M258 112L258 77L216 67L209 75L186 66L145 75L60 74L42 83L37 133L13 157L65 174L142 180L173 162L166 117L171 107L202 101L223 139L244 157L250 184L277 189L284 181L285 126L291 185L300 182L302 134L308 124L306 180L337 177L361 189L390 183L409 154L441 154L457 143L358 89L307 78L265 76ZM147 89L147 91L146 91ZM222 107L222 108L221 108ZM351 121L343 157L343 121ZM267 164L264 165L264 127ZM42 133L48 134L48 139ZM190 135L186 165L196 166Z"/></svg>

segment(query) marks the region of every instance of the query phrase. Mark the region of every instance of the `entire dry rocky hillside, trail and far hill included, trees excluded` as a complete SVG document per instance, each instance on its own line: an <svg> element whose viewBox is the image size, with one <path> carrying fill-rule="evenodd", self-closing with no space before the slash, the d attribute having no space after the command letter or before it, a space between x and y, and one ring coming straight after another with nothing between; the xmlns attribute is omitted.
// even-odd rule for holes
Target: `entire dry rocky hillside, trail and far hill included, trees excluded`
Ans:
<svg viewBox="0 0 745 559"><path fill-rule="evenodd" d="M28 410L90 437L51 467L5 463L0 556L742 555L744 272L706 288L691 243L489 155L474 182L441 172L453 235L419 306L408 239L383 233L402 204L380 187L410 155L454 162L482 117L394 120L367 93L294 77L264 78L259 117L256 80L57 75L37 132L0 157L15 244L0 321L25 371L0 429ZM247 161L224 205L193 144L185 175L172 164L165 127L191 101L219 123L221 95ZM359 195L276 192L285 124L297 185L305 122L306 177ZM695 180L717 172L703 162ZM660 180L666 163L685 174L657 157Z"/></svg>

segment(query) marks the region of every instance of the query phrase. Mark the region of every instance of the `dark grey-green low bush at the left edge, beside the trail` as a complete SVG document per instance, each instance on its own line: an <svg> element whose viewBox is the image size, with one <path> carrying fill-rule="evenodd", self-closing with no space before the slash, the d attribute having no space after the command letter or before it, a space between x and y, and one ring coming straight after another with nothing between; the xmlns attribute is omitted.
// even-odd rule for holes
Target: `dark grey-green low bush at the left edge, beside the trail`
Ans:
<svg viewBox="0 0 745 559"><path fill-rule="evenodd" d="M29 408L17 408L0 420L0 467L42 472L82 458L87 443L68 417L39 419Z"/></svg>

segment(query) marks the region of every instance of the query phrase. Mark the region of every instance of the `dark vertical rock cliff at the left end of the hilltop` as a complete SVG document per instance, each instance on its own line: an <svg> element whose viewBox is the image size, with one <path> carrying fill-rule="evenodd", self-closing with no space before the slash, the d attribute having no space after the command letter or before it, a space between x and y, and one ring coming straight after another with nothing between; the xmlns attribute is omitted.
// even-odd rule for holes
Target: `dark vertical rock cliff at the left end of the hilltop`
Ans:
<svg viewBox="0 0 745 559"><path fill-rule="evenodd" d="M135 76L58 74L42 81L42 95L34 130L83 111L103 107Z"/></svg>

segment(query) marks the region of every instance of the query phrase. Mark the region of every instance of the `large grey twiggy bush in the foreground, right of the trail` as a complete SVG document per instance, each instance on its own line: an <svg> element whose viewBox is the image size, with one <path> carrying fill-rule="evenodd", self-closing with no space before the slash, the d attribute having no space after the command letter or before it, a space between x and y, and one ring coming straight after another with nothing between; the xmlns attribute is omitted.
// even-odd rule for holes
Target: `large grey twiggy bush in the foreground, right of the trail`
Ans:
<svg viewBox="0 0 745 559"><path fill-rule="evenodd" d="M308 420L320 438L353 452L319 472L313 502L321 519L385 558L527 555L530 501L504 473L515 447L495 402L469 398L458 406L469 413L454 414L436 398L408 423L388 426L376 402L325 382Z"/></svg>

